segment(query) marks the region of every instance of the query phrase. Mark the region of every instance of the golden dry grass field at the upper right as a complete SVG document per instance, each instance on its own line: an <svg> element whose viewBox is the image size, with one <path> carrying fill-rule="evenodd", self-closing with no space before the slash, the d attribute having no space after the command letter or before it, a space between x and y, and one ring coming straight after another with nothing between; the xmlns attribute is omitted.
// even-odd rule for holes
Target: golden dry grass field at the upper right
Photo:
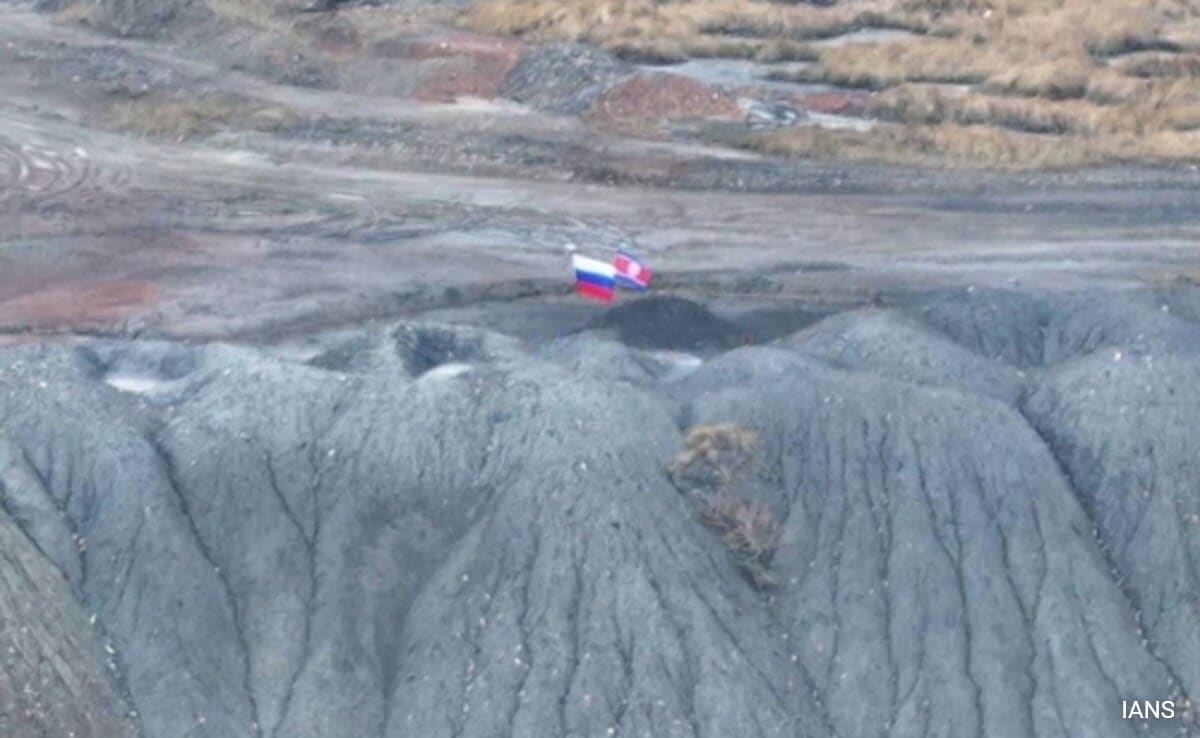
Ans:
<svg viewBox="0 0 1200 738"><path fill-rule="evenodd" d="M996 168L1200 161L1198 0L479 0L462 22L664 61L811 59L806 80L878 92L870 133L745 138L775 152ZM912 35L812 43L863 28Z"/></svg>

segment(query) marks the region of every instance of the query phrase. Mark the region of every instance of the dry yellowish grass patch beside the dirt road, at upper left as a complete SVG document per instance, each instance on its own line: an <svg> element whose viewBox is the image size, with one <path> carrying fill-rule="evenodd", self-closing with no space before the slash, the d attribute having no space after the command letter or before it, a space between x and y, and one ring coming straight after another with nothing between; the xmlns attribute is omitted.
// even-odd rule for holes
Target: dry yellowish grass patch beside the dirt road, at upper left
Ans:
<svg viewBox="0 0 1200 738"><path fill-rule="evenodd" d="M282 106L260 104L230 95L138 97L113 104L108 116L124 131L175 140L211 133L220 127L271 131L296 119Z"/></svg>

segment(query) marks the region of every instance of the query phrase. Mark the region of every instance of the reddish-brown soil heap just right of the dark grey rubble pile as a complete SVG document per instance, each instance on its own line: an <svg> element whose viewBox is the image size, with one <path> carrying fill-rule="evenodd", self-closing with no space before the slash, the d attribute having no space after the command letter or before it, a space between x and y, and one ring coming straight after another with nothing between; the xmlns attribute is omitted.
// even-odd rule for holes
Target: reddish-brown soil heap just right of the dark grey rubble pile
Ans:
<svg viewBox="0 0 1200 738"><path fill-rule="evenodd" d="M587 116L616 128L672 120L737 118L737 102L726 92L678 74L637 74L605 92Z"/></svg>

